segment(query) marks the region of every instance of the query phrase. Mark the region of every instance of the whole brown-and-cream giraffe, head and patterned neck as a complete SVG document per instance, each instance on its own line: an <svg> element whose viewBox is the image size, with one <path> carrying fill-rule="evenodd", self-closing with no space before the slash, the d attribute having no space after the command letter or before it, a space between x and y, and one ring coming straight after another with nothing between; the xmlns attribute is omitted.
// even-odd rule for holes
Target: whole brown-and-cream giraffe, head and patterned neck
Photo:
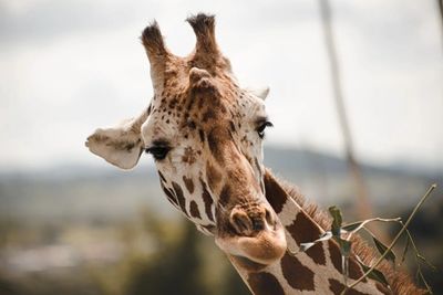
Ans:
<svg viewBox="0 0 443 295"><path fill-rule="evenodd" d="M96 129L86 147L122 169L151 154L167 200L214 236L253 294L340 294L338 244L299 252L330 220L264 166L265 129L272 126L264 103L269 89L240 87L216 42L214 15L187 22L196 45L185 57L166 48L155 21L143 31L154 96L137 117ZM363 274L357 257L367 265L375 257L360 238L352 244L350 282ZM389 285L365 278L347 294L424 294L389 263L379 270Z"/></svg>

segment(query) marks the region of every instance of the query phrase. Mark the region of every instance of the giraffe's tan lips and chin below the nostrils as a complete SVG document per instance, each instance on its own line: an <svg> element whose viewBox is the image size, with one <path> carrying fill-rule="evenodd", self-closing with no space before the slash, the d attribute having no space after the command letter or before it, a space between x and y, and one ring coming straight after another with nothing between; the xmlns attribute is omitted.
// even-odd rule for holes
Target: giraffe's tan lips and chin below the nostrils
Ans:
<svg viewBox="0 0 443 295"><path fill-rule="evenodd" d="M258 272L279 261L287 250L281 225L264 230L255 236L224 236L216 238L215 242L236 264L250 272Z"/></svg>

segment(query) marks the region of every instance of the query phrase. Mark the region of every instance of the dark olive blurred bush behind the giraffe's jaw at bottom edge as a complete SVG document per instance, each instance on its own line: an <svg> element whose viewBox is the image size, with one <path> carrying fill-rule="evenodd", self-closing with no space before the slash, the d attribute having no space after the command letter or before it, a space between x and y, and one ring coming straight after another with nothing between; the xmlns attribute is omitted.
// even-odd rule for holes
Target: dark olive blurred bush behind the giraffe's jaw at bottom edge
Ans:
<svg viewBox="0 0 443 295"><path fill-rule="evenodd" d="M122 262L115 273L102 274L103 295L249 294L227 259L217 252L214 243L205 243L205 236L193 223L181 220L179 223L168 225L168 222L145 212L143 224L142 231L155 241L155 251L146 256L132 250L135 253L127 255L127 261ZM131 242L130 234L122 236L128 241L131 249L130 244L134 242ZM216 263L208 265L208 255ZM215 275L216 280L209 275ZM117 287L113 286L114 277L119 277Z"/></svg>

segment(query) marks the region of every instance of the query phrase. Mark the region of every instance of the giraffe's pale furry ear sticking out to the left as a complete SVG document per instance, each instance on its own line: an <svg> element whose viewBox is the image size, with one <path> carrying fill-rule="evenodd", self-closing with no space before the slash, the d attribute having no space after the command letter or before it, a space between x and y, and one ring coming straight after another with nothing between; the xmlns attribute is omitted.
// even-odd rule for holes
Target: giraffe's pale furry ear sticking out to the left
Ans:
<svg viewBox="0 0 443 295"><path fill-rule="evenodd" d="M126 119L115 127L99 128L87 137L85 146L107 162L122 169L131 169L138 162L144 149L141 127L146 118L145 112L142 116Z"/></svg>

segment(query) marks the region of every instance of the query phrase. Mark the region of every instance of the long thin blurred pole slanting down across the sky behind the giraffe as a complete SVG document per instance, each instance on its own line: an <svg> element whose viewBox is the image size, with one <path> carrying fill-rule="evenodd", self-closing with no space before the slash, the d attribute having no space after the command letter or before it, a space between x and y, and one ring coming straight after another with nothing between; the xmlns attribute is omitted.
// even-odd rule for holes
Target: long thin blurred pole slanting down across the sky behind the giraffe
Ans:
<svg viewBox="0 0 443 295"><path fill-rule="evenodd" d="M329 57L329 67L331 74L331 83L333 97L336 99L337 113L340 122L341 131L344 141L346 159L349 167L349 173L352 178L354 186L354 193L358 198L356 201L356 212L359 219L368 219L372 214L371 206L368 199L368 189L363 180L362 171L359 164L356 160L353 154L353 141L351 130L349 128L347 109L343 102L343 94L341 88L341 73L340 66L337 59L336 44L333 39L332 25L331 25L331 9L329 0L319 0L321 11L321 22L324 32L324 43Z"/></svg>

